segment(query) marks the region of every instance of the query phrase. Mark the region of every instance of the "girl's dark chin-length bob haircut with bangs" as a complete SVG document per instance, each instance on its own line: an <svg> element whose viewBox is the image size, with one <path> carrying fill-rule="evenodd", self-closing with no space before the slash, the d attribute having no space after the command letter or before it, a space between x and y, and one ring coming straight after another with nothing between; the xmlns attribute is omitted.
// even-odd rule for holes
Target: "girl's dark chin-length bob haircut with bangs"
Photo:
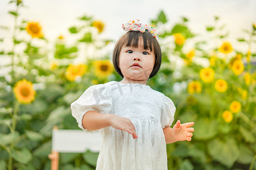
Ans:
<svg viewBox="0 0 256 170"><path fill-rule="evenodd" d="M118 41L117 44L115 44L114 52L113 52L113 64L115 67L115 70L119 75L122 76L119 65L119 56L121 49L124 46L131 46L133 48L138 48L139 46L139 40L143 39L144 49L150 51L154 51L155 53L155 64L154 68L149 76L149 78L152 78L156 73L158 73L158 70L160 69L161 61L162 61L162 52L160 45L158 41L151 35L150 32L145 31L144 33L140 31L128 31L125 35L123 35Z"/></svg>

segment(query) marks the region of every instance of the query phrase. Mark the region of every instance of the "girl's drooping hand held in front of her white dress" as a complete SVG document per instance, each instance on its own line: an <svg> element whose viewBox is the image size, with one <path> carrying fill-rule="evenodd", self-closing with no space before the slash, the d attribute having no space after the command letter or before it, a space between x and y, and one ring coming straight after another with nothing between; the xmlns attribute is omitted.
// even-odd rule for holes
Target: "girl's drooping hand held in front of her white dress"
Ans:
<svg viewBox="0 0 256 170"><path fill-rule="evenodd" d="M131 122L131 120L129 118L111 114L110 125L115 129L127 131L128 133L133 135L134 139L138 138L137 134L136 134L135 127L133 125L133 122Z"/></svg>

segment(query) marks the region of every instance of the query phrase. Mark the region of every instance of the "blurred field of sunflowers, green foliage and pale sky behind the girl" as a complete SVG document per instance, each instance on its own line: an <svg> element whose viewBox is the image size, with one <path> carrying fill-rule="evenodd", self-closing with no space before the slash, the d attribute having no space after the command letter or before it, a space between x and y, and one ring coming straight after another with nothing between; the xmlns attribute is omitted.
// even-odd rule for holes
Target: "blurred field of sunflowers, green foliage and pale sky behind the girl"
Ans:
<svg viewBox="0 0 256 170"><path fill-rule="evenodd" d="M122 24L158 29L159 73L192 142L167 145L169 169L256 169L256 1L0 2L0 169L50 169L53 126L79 129L70 104L121 80ZM60 154L60 169L95 169L97 152Z"/></svg>

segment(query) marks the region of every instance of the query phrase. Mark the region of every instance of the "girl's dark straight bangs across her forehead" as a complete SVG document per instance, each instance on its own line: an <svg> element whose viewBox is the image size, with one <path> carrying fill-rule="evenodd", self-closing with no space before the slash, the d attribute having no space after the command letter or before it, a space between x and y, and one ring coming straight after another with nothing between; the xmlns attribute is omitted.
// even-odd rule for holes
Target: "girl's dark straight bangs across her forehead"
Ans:
<svg viewBox="0 0 256 170"><path fill-rule="evenodd" d="M139 31L129 31L126 33L125 36L123 36L123 43L121 44L121 46L129 46L129 47L133 47L133 48L138 48L139 47L139 40L143 40L143 46L145 50L150 50L150 52L152 52L152 50L155 51L154 48L154 39L155 37L153 37L149 32L145 31L144 33L139 32Z"/></svg>

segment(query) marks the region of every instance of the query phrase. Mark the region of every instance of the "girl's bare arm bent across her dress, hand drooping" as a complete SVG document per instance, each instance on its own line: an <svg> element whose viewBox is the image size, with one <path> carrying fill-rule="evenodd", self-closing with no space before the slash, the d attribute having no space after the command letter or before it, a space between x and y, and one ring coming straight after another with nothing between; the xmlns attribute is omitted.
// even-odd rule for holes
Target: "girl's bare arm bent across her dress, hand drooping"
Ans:
<svg viewBox="0 0 256 170"><path fill-rule="evenodd" d="M133 138L138 138L135 127L129 118L117 116L115 114L105 114L96 111L88 111L82 117L82 126L88 130L98 130L112 126L115 129L125 130L133 135Z"/></svg>

